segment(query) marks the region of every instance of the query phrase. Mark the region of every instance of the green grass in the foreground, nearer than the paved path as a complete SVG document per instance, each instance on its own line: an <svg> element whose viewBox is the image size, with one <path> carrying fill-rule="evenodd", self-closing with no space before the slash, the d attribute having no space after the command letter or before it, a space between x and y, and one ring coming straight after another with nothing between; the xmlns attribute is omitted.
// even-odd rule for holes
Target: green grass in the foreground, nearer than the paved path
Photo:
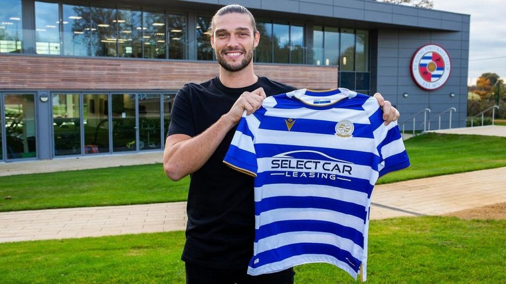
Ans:
<svg viewBox="0 0 506 284"><path fill-rule="evenodd" d="M506 220L424 216L371 220L368 283L500 283ZM183 283L183 232L0 244L3 283ZM356 283L329 264L295 282Z"/></svg>

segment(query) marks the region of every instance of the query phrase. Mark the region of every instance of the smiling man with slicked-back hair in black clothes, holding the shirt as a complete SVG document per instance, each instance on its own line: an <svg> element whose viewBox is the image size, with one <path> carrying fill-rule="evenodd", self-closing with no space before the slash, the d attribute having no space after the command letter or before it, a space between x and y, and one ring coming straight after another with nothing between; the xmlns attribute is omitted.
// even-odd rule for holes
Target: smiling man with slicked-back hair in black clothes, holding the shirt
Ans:
<svg viewBox="0 0 506 284"><path fill-rule="evenodd" d="M250 276L255 230L253 179L222 161L244 110L256 111L267 95L295 88L255 75L252 59L260 34L239 5L212 20L211 45L220 75L179 90L168 129L163 166L174 181L191 175L182 259L187 283L293 283L293 269ZM398 111L376 94L386 123Z"/></svg>

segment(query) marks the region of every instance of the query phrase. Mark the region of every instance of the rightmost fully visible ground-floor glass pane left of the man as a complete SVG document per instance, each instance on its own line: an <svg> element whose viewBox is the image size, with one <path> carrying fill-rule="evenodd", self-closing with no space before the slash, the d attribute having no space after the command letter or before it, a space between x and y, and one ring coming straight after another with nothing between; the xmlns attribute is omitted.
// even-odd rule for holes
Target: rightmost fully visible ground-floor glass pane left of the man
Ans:
<svg viewBox="0 0 506 284"><path fill-rule="evenodd" d="M139 150L161 149L160 94L139 96Z"/></svg>

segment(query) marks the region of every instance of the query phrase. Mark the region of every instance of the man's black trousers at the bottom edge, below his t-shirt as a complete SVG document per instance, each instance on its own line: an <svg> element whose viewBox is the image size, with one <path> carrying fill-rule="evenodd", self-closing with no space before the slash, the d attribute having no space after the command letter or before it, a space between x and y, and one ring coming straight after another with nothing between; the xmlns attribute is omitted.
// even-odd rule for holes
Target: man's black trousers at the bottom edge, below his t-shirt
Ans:
<svg viewBox="0 0 506 284"><path fill-rule="evenodd" d="M185 263L186 284L293 284L293 268L251 276L246 269L217 269Z"/></svg>

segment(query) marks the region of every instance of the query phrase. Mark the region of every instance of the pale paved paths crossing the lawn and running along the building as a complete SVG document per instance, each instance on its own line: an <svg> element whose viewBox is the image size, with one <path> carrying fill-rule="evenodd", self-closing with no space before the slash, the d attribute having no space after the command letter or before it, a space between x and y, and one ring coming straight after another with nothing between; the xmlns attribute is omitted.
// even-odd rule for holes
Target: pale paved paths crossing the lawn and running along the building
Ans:
<svg viewBox="0 0 506 284"><path fill-rule="evenodd" d="M473 129L482 135L503 133L506 137L506 127ZM0 173L155 163L161 162L161 156L161 152L151 152L0 163ZM505 185L506 167L379 185L372 194L371 219L439 215L506 202ZM0 243L184 230L185 211L185 202L175 202L4 212L0 213Z"/></svg>

